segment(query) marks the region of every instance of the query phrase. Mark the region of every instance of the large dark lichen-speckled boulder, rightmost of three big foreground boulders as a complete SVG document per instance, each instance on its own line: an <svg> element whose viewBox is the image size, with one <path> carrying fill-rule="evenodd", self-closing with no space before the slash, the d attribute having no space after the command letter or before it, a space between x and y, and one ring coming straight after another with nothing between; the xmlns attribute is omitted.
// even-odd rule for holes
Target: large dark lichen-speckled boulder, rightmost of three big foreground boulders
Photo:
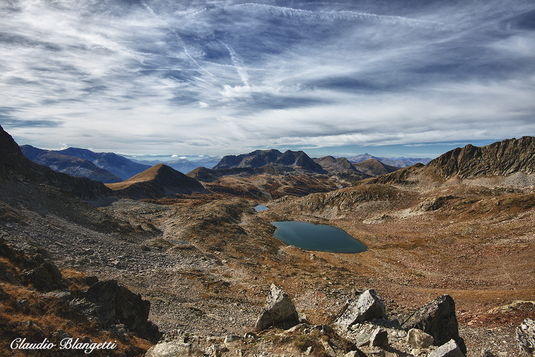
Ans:
<svg viewBox="0 0 535 357"><path fill-rule="evenodd" d="M467 352L464 340L459 336L455 301L448 294L426 303L398 318L405 330L418 329L433 336L435 345L443 345L454 339L462 353Z"/></svg>

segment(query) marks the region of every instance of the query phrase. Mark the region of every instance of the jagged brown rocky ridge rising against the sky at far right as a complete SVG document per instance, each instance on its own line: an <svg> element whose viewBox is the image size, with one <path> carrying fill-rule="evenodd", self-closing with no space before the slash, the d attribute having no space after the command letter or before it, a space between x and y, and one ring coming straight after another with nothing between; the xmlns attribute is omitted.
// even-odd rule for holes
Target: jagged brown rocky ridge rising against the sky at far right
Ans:
<svg viewBox="0 0 535 357"><path fill-rule="evenodd" d="M461 179L485 175L507 176L518 171L531 174L535 172L535 138L522 136L520 139L506 139L482 147L467 145L448 151L426 167L444 178L455 174Z"/></svg>

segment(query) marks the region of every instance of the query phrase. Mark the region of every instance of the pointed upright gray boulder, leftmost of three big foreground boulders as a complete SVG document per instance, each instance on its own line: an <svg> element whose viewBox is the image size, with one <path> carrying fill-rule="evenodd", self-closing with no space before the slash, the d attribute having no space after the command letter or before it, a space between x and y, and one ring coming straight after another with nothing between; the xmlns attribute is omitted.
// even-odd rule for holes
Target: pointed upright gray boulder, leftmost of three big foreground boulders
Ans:
<svg viewBox="0 0 535 357"><path fill-rule="evenodd" d="M280 322L296 325L299 323L299 316L289 295L275 284L271 284L264 308L256 320L255 330L260 332Z"/></svg>

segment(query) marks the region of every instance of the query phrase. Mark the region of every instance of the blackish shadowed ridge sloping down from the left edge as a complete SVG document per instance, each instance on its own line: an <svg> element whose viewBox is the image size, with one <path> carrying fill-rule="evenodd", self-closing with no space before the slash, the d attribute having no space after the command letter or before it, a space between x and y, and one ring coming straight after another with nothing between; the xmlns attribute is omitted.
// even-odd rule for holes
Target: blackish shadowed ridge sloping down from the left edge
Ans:
<svg viewBox="0 0 535 357"><path fill-rule="evenodd" d="M36 164L22 155L20 147L10 134L0 126L0 172L7 179L36 181L40 184L64 189L82 200L96 201L111 196L111 189L103 183L85 177L72 177L55 172L47 166Z"/></svg>

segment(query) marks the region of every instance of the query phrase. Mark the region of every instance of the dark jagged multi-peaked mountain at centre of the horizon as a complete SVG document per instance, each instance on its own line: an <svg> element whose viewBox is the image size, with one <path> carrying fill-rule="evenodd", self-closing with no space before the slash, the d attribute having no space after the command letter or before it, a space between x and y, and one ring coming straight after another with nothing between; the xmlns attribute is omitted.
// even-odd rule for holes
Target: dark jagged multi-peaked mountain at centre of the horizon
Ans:
<svg viewBox="0 0 535 357"><path fill-rule="evenodd" d="M288 166L300 171L327 173L303 151L286 150L281 153L276 149L255 150L252 153L238 156L227 155L213 169L260 168L266 165Z"/></svg>

